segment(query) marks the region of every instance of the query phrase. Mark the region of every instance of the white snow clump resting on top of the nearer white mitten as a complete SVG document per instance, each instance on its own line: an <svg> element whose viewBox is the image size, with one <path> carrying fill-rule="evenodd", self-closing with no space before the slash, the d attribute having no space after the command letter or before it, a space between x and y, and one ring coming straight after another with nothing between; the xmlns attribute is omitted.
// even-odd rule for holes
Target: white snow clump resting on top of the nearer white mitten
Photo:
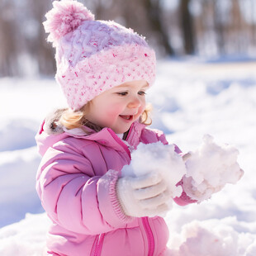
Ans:
<svg viewBox="0 0 256 256"><path fill-rule="evenodd" d="M161 142L138 145L131 154L130 165L122 169L122 176L139 177L147 173L160 173L168 183L172 197L180 197L181 186L176 186L186 173L181 155L175 152L174 145L163 145Z"/></svg>

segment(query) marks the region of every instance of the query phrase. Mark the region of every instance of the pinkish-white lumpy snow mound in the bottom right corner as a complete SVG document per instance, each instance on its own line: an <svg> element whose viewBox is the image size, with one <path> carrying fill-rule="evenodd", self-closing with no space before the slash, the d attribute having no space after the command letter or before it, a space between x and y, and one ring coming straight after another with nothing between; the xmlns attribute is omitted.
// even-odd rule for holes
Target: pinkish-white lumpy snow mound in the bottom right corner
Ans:
<svg viewBox="0 0 256 256"><path fill-rule="evenodd" d="M233 225L230 225L230 222ZM194 220L183 225L181 233L176 235L173 244L169 245L173 249L169 249L167 255L255 255L255 235L239 233L235 228L237 225L239 223L234 217L224 220Z"/></svg>

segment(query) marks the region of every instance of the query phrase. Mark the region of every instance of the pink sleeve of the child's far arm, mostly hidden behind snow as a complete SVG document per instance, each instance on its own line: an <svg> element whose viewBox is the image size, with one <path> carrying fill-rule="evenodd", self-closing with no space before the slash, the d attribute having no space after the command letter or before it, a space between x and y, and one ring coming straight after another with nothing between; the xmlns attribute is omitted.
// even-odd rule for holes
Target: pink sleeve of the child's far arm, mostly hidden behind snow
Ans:
<svg viewBox="0 0 256 256"><path fill-rule="evenodd" d="M140 141L145 144L161 141L164 145L168 145L168 140L166 140L164 132L157 129L144 129L141 133ZM174 145L174 146L175 146L175 152L183 155L182 150L179 149L177 145ZM177 186L183 187L183 181L181 180L177 184ZM188 197L186 192L184 192L184 189L183 189L182 195L180 197L173 198L173 201L175 201L179 206L187 206L188 204L197 202L197 200L192 200L191 197Z"/></svg>

